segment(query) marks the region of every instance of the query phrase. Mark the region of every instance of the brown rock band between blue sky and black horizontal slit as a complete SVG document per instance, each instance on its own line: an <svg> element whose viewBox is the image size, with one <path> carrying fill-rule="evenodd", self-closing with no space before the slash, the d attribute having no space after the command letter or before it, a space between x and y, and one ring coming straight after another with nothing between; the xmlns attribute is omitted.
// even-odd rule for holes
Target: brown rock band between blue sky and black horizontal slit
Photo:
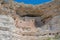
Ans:
<svg viewBox="0 0 60 40"><path fill-rule="evenodd" d="M45 14L47 16L52 16L53 14L56 15L57 12L59 12L59 2L58 1L52 1L50 3L42 4L42 5L29 5L27 6L25 4L20 5L20 7L17 9L17 14L23 16L23 15L35 15L35 16L42 16L45 17ZM49 15L48 15L49 14Z"/></svg>

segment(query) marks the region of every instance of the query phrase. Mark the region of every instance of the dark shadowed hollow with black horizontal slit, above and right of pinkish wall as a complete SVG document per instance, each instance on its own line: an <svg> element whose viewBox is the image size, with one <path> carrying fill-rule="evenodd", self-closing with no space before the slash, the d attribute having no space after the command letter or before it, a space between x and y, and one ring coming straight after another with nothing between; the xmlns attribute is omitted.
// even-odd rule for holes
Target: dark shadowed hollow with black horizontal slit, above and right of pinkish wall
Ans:
<svg viewBox="0 0 60 40"><path fill-rule="evenodd" d="M32 14L27 14L27 15L23 15L21 17L28 17L29 19L33 18L35 19L35 26L36 27L41 27L43 25L43 22L41 21L41 17L37 16L37 15L32 15Z"/></svg>

